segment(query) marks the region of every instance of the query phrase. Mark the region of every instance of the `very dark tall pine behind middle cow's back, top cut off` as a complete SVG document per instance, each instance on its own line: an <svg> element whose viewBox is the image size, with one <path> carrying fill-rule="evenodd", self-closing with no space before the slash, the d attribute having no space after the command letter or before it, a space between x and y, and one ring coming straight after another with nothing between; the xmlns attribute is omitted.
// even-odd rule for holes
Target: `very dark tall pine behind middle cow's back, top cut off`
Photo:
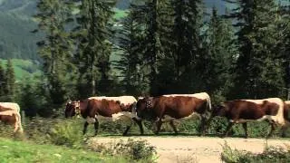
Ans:
<svg viewBox="0 0 290 163"><path fill-rule="evenodd" d="M200 30L203 3L201 0L173 0L172 5L174 10L172 51L174 52L178 90L182 92L198 91L201 84L198 60L202 56Z"/></svg>

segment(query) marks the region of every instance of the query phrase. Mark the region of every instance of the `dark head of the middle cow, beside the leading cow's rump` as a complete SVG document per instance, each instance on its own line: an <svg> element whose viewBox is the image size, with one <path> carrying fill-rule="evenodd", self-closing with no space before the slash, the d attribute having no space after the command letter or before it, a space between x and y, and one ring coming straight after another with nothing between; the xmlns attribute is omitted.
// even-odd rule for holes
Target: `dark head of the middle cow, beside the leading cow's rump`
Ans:
<svg viewBox="0 0 290 163"><path fill-rule="evenodd" d="M152 120L153 116L153 98L146 97L137 101L137 116L141 119Z"/></svg>

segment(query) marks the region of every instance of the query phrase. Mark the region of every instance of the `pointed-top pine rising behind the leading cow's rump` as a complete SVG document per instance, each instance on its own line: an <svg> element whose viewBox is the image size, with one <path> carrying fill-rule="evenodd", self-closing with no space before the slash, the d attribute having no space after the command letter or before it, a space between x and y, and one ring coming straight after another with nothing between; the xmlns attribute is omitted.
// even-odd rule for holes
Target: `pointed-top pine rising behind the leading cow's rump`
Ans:
<svg viewBox="0 0 290 163"><path fill-rule="evenodd" d="M146 82L140 49L144 38L141 24L137 23L138 5L131 4L130 13L123 20L120 31L119 44L121 60L116 62L116 68L121 71L121 83L124 91L132 95L145 94L149 91L149 82Z"/></svg>

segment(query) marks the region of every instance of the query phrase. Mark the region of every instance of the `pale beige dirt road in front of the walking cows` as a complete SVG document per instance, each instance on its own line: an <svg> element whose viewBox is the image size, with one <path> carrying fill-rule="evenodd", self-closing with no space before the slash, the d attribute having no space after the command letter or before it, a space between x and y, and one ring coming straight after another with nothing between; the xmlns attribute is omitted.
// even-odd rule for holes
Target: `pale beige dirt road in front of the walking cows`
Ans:
<svg viewBox="0 0 290 163"><path fill-rule="evenodd" d="M160 163L185 162L221 162L222 145L227 144L234 149L251 152L262 152L266 146L265 139L237 139L237 138L199 138L199 137L130 137L132 139L146 139L157 148ZM116 143L120 138L94 138L98 143ZM288 139L268 139L268 146L290 145Z"/></svg>

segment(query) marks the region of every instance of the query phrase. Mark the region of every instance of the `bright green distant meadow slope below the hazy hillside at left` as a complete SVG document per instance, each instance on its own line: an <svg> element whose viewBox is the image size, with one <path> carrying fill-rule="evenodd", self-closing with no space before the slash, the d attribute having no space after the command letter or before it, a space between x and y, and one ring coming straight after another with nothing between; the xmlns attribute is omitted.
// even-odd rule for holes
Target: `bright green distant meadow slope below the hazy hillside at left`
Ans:
<svg viewBox="0 0 290 163"><path fill-rule="evenodd" d="M5 67L7 60L0 59L0 64ZM40 67L31 60L13 59L14 72L17 81L24 80L25 77L41 74Z"/></svg>

